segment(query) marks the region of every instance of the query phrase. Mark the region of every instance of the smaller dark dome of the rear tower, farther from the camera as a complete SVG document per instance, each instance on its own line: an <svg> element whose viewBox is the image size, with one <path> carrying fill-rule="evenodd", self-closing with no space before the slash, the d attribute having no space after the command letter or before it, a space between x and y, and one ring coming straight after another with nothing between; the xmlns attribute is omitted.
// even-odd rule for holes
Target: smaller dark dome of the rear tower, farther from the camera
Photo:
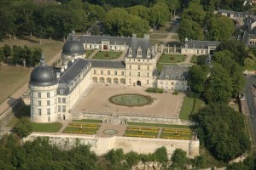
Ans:
<svg viewBox="0 0 256 170"><path fill-rule="evenodd" d="M79 40L75 40L72 38L64 44L62 54L83 55L85 54L84 45Z"/></svg>

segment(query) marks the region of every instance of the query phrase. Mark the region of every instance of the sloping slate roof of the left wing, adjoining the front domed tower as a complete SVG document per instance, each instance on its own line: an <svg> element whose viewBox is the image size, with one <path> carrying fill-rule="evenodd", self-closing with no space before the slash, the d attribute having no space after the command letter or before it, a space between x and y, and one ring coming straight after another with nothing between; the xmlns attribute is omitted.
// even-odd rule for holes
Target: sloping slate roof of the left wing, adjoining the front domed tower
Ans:
<svg viewBox="0 0 256 170"><path fill-rule="evenodd" d="M67 70L61 73L61 77L58 82L58 94L69 94L72 90L79 84L80 73L84 71L86 68L89 68L84 73L84 77L87 72L90 71L90 60L87 59L76 59L73 63L69 62L67 64ZM75 82L73 84L73 82ZM73 86L73 88L70 88ZM60 93L62 91L62 93Z"/></svg>

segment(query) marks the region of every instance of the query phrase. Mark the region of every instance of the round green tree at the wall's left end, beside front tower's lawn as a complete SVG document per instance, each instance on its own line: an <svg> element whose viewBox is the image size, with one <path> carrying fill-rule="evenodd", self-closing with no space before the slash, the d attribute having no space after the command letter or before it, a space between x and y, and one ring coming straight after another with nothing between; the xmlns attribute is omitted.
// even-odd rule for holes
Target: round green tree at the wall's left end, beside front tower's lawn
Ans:
<svg viewBox="0 0 256 170"><path fill-rule="evenodd" d="M17 133L20 138L24 138L32 133L32 123L28 117L21 117L15 124L14 132Z"/></svg>

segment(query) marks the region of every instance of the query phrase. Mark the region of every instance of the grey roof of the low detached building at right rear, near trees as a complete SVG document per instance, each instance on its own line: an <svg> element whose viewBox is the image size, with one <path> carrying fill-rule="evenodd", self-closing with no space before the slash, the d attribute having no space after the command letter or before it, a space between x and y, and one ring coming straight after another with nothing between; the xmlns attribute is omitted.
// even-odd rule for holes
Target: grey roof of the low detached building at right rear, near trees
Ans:
<svg viewBox="0 0 256 170"><path fill-rule="evenodd" d="M220 42L214 42L214 41L195 41L195 40L188 40L185 43L183 43L182 48L185 48L186 45L188 48L204 48L207 49L208 46L218 46Z"/></svg>

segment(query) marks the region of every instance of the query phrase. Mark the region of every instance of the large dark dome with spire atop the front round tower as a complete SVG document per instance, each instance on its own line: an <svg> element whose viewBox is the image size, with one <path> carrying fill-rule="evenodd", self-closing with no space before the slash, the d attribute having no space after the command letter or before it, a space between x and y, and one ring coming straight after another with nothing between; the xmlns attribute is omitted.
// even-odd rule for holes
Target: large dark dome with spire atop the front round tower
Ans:
<svg viewBox="0 0 256 170"><path fill-rule="evenodd" d="M44 56L42 55L41 65L38 65L30 75L29 84L32 86L52 86L57 83L55 71L44 63Z"/></svg>

